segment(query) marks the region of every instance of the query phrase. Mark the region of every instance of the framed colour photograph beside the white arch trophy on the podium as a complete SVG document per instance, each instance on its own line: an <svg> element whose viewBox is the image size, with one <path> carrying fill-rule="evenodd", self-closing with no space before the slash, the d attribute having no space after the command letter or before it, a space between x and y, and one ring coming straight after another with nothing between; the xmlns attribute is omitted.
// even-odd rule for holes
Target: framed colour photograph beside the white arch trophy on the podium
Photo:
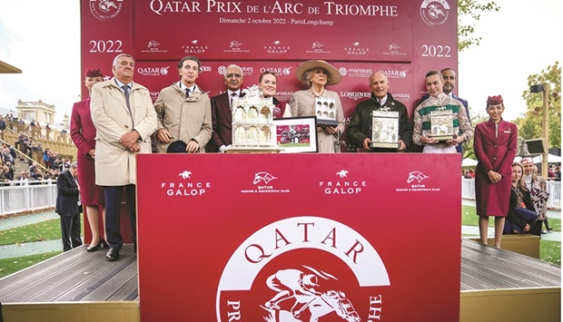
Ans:
<svg viewBox="0 0 563 322"><path fill-rule="evenodd" d="M273 119L276 142L282 153L316 152L317 122L311 117Z"/></svg>

